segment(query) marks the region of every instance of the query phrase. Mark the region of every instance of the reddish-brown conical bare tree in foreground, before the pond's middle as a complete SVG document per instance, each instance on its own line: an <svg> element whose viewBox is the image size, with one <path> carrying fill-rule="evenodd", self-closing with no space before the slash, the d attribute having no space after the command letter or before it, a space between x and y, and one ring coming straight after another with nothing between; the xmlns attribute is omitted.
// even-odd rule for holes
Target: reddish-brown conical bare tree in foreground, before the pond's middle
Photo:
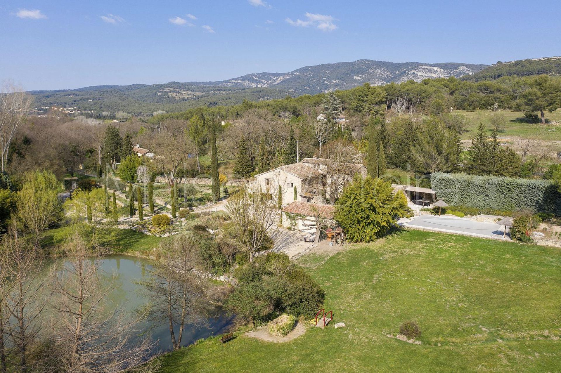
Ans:
<svg viewBox="0 0 561 373"><path fill-rule="evenodd" d="M113 285L103 284L100 262L79 235L65 243L65 261L54 265L49 284L52 351L45 358L45 371L61 372L150 372L146 362L154 347L148 339L136 339L135 325L119 307L108 309ZM142 365L142 366L141 366Z"/></svg>

